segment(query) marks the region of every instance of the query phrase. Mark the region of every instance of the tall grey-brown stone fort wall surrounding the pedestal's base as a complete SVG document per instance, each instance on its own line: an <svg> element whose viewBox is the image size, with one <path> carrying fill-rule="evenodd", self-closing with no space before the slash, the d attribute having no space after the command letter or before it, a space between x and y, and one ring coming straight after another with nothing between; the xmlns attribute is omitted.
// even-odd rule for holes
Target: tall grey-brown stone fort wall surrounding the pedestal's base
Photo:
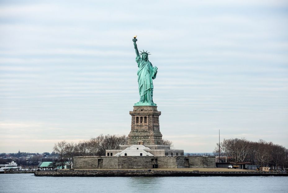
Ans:
<svg viewBox="0 0 288 193"><path fill-rule="evenodd" d="M214 156L78 156L74 169L216 168Z"/></svg>

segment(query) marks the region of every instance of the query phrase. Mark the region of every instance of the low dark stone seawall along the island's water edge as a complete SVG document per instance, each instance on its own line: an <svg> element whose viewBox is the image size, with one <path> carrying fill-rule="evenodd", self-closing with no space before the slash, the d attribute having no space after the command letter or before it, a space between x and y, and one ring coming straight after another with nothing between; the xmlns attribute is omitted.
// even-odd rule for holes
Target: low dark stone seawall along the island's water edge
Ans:
<svg viewBox="0 0 288 193"><path fill-rule="evenodd" d="M177 170L57 170L36 171L35 176L52 177L164 177L164 176L288 176L287 173L273 172L199 172Z"/></svg>

